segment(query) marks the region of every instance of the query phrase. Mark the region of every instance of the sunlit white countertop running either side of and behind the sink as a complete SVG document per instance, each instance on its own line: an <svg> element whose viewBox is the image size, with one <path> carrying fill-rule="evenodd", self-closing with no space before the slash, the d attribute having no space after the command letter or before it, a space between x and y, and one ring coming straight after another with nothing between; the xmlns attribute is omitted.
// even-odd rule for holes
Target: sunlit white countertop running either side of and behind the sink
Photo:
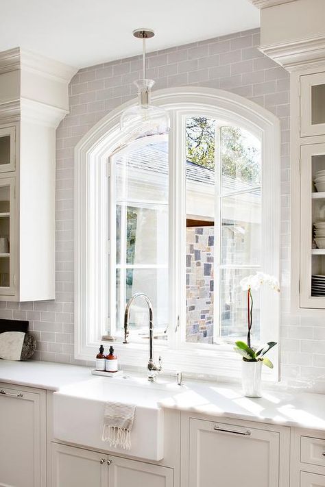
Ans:
<svg viewBox="0 0 325 487"><path fill-rule="evenodd" d="M299 390L265 390L261 399L250 399L243 397L238 386L228 384L185 381L184 386L178 386L174 379L171 381L164 377L159 377L158 383L151 384L145 375L129 375L128 379L104 377L104 380L126 387L132 385L152 389L152 395L156 390L157 404L163 408L325 431L325 395ZM84 366L0 360L0 382L10 384L62 390L64 393L69 393L71 385L73 394L78 383L87 382L94 387L97 382L100 383L98 379L91 376L91 368Z"/></svg>

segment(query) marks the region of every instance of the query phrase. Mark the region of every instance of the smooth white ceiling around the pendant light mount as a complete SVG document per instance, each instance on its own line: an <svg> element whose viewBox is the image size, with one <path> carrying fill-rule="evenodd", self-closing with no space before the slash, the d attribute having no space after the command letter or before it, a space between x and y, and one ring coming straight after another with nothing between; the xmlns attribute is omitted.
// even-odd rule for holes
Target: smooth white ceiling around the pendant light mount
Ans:
<svg viewBox="0 0 325 487"><path fill-rule="evenodd" d="M249 0L1 0L0 51L20 46L80 68L141 53L138 27L154 29L155 51L258 25Z"/></svg>

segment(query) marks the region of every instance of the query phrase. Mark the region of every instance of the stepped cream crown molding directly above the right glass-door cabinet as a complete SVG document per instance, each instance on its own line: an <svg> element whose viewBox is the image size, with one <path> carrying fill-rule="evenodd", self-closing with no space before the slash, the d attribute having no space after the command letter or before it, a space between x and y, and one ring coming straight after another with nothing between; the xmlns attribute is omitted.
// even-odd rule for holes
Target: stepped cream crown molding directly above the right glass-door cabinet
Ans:
<svg viewBox="0 0 325 487"><path fill-rule="evenodd" d="M280 45L260 46L258 49L287 71L325 62L325 36L295 40Z"/></svg>

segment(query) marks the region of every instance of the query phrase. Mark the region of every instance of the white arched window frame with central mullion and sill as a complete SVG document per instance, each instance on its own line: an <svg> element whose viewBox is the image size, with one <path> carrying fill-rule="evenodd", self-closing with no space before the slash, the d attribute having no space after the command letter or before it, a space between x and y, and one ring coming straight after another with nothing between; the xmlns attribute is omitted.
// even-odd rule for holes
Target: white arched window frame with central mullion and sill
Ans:
<svg viewBox="0 0 325 487"><path fill-rule="evenodd" d="M185 312L185 160L184 119L204 115L234 125L254 134L262 141L263 191L262 232L267 247L262 249L263 271L279 276L280 263L280 123L274 114L256 103L214 88L172 88L157 90L152 101L171 114L169 132L169 204L173 218L169 218L169 330L175 331L184 323ZM75 147L75 358L94 360L100 336L106 334L103 317L106 316L107 297L100 282L106 279L107 253L114 251L112 240L106 240L106 223L112 214L108 208L110 156L127 144L128 138L119 130L119 118L125 103L101 119ZM178 140L176 145L175 140ZM103 204L104 203L104 204ZM113 239L114 240L114 239ZM110 299L114 299L110 286ZM278 293L263 289L263 339L278 341ZM107 327L107 325L106 325ZM154 351L163 355L165 371L182 370L217 376L219 379L237 379L241 360L230 345L201 345L184 343L182 334L169 333L168 346L155 342ZM278 380L278 348L274 347L274 369L265 370L265 379ZM115 343L119 360L124 366L147 364L148 345Z"/></svg>

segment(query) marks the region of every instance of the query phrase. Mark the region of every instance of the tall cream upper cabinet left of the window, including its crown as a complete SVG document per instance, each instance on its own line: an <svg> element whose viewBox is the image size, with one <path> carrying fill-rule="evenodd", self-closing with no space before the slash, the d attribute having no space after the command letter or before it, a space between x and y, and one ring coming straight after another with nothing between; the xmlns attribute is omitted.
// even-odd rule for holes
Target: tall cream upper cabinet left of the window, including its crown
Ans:
<svg viewBox="0 0 325 487"><path fill-rule="evenodd" d="M0 301L55 298L56 127L75 71L0 53Z"/></svg>

